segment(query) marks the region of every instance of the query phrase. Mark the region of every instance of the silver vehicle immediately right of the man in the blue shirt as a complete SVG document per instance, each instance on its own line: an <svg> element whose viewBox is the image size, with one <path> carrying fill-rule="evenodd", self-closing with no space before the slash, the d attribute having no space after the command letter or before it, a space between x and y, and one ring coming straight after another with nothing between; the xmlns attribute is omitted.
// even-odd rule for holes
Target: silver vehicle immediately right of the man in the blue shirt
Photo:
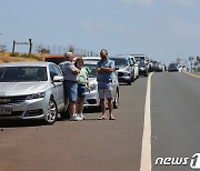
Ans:
<svg viewBox="0 0 200 171"><path fill-rule="evenodd" d="M130 57L117 56L111 57L110 59L114 61L119 82L131 84L134 80L134 70Z"/></svg>

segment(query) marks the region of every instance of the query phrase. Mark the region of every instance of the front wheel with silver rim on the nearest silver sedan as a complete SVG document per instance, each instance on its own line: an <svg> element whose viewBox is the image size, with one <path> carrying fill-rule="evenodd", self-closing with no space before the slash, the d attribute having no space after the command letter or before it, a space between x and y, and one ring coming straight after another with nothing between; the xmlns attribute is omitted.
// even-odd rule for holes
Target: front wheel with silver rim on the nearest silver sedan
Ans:
<svg viewBox="0 0 200 171"><path fill-rule="evenodd" d="M57 103L53 100L53 98L51 98L48 105L48 113L44 119L46 123L53 124L57 120L57 117L58 117Z"/></svg>

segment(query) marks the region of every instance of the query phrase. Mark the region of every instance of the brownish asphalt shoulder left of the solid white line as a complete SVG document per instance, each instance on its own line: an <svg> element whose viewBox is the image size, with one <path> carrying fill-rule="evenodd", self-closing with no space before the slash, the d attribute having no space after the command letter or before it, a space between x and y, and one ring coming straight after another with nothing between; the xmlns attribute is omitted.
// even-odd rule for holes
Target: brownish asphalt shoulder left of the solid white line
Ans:
<svg viewBox="0 0 200 171"><path fill-rule="evenodd" d="M116 121L6 122L0 125L0 171L139 171L147 78L120 86Z"/></svg>

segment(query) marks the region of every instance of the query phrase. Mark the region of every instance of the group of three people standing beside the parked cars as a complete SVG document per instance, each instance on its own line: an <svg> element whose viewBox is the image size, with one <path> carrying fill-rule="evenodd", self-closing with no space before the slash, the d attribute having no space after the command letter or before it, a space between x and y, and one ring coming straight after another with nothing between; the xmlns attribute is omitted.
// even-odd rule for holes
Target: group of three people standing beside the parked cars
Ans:
<svg viewBox="0 0 200 171"><path fill-rule="evenodd" d="M114 61L108 59L108 51L100 51L101 60L97 64L98 92L101 105L101 117L99 120L107 119L106 99L108 100L109 119L113 117L113 88L112 76L114 74ZM86 92L90 92L89 71L83 67L84 61L81 57L73 56L72 52L64 53L66 62L62 64L64 76L64 98L69 100L70 121L86 119L82 114Z"/></svg>

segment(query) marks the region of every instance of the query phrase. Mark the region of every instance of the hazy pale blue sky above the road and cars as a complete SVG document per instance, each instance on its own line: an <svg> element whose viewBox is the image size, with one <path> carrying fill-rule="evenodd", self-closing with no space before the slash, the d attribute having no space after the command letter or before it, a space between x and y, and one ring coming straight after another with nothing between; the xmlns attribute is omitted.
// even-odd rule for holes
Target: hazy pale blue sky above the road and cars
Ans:
<svg viewBox="0 0 200 171"><path fill-rule="evenodd" d="M169 63L200 56L200 0L0 0L0 44L30 38Z"/></svg>

